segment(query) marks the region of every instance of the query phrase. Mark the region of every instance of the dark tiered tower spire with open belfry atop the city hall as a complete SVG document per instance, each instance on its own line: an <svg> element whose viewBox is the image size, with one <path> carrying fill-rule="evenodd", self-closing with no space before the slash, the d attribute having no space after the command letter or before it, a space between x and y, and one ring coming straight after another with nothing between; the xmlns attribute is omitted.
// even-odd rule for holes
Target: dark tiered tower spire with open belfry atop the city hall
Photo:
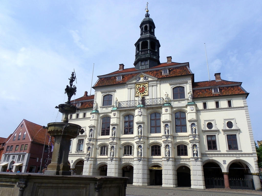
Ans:
<svg viewBox="0 0 262 196"><path fill-rule="evenodd" d="M148 12L149 10L146 6L145 18L140 24L140 38L135 43L134 66L138 70L151 68L160 64L160 43L155 37L156 27Z"/></svg>

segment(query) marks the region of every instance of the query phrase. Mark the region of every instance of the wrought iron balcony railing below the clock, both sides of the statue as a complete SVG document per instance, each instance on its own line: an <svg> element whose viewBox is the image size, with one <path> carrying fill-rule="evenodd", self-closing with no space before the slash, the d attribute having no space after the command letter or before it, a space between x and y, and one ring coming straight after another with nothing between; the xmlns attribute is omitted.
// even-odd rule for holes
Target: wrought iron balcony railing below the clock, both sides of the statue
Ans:
<svg viewBox="0 0 262 196"><path fill-rule="evenodd" d="M153 106L153 105L163 105L165 103L163 97L160 98L151 98L151 99L142 99L142 105L144 106ZM136 107L138 105L137 100L131 101L119 101L118 108L123 107Z"/></svg>

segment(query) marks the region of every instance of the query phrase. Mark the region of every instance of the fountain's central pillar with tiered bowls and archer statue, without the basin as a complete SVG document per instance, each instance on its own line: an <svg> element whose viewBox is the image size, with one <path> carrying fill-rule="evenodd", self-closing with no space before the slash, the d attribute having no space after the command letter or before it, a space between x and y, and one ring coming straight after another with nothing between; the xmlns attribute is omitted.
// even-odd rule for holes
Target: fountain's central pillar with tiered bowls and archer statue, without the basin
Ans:
<svg viewBox="0 0 262 196"><path fill-rule="evenodd" d="M71 97L75 95L77 87L73 85L76 77L72 72L70 80L70 87L67 85L65 93L68 96L68 100L65 103L59 104L56 108L59 112L64 114L63 122L48 123L48 133L54 137L54 150L52 155L52 161L47 166L45 171L46 175L71 175L70 166L68 162L70 139L77 137L79 132L82 134L84 130L77 124L68 123L68 115L74 114L77 111L77 107L70 103ZM73 86L73 87L72 87Z"/></svg>

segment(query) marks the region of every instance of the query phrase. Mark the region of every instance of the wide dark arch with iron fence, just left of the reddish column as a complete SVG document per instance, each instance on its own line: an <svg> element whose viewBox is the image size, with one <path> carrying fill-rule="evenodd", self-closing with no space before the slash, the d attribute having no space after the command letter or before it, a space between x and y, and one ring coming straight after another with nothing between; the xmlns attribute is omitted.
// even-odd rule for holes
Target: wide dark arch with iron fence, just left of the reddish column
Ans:
<svg viewBox="0 0 262 196"><path fill-rule="evenodd" d="M208 162L203 165L206 188L225 188L224 175L217 163Z"/></svg>

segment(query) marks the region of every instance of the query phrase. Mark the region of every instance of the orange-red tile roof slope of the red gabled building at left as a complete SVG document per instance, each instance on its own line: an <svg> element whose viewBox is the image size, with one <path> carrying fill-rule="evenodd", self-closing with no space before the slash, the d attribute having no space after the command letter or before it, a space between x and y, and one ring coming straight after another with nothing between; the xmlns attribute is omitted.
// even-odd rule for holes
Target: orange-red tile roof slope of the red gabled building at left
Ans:
<svg viewBox="0 0 262 196"><path fill-rule="evenodd" d="M28 120L23 120L25 123L25 126L28 130L28 133L32 139L32 141L37 142L37 143L42 143L42 144L48 144L49 143L49 139L48 136L50 138L49 133L47 132L46 135L46 129L43 129L43 126L32 123ZM45 137L46 136L46 137ZM46 138L46 140L45 140ZM52 137L52 143L54 144L54 137ZM50 144L49 144L50 145Z"/></svg>

